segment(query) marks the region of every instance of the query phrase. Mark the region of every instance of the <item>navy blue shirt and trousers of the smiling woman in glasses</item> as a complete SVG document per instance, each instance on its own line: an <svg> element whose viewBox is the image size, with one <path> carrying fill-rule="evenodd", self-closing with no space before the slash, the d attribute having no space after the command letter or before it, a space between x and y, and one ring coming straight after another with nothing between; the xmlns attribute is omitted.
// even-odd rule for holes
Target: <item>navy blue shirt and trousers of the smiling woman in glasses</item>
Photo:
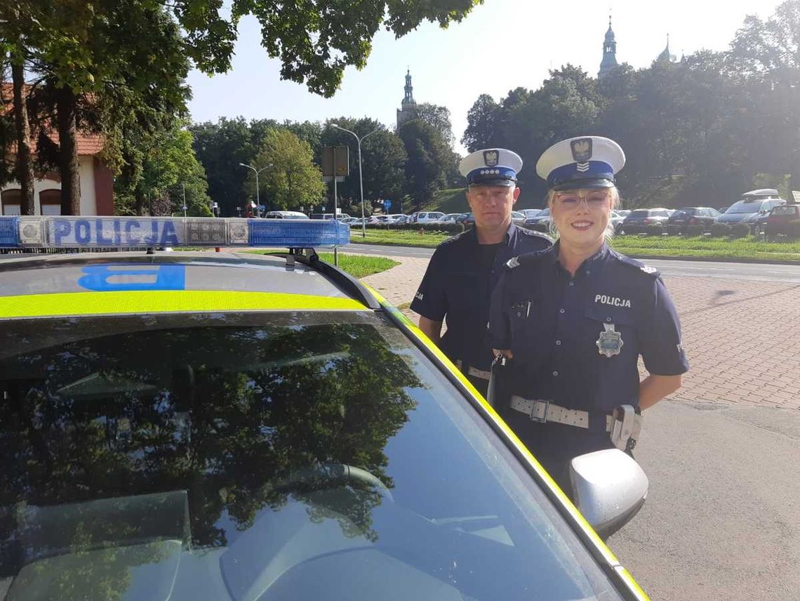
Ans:
<svg viewBox="0 0 800 601"><path fill-rule="evenodd" d="M600 352L606 331L618 333L622 345L612 339L610 356ZM590 412L586 431L504 411L523 442L530 435L536 446L571 446L564 454L572 457L610 447L605 415L619 405L638 407L639 355L651 374L689 369L678 313L658 271L606 245L574 277L558 262L558 242L508 262L491 299L489 333L492 347L514 353L510 394Z"/></svg>

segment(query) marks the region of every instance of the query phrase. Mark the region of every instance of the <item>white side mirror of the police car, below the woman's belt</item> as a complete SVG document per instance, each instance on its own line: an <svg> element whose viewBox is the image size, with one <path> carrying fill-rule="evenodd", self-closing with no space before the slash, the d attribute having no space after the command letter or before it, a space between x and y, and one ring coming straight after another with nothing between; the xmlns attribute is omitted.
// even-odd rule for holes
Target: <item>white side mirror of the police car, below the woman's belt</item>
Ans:
<svg viewBox="0 0 800 601"><path fill-rule="evenodd" d="M570 484L575 506L602 539L630 522L650 487L642 467L619 449L575 457L570 462Z"/></svg>

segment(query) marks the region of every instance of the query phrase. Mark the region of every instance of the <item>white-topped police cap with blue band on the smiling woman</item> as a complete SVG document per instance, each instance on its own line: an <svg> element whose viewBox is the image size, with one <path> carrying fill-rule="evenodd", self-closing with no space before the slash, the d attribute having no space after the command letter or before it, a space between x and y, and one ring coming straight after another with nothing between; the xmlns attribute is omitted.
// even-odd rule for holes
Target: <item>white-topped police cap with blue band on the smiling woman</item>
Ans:
<svg viewBox="0 0 800 601"><path fill-rule="evenodd" d="M550 146L536 162L536 173L552 190L610 188L625 165L625 153L614 140L580 136Z"/></svg>

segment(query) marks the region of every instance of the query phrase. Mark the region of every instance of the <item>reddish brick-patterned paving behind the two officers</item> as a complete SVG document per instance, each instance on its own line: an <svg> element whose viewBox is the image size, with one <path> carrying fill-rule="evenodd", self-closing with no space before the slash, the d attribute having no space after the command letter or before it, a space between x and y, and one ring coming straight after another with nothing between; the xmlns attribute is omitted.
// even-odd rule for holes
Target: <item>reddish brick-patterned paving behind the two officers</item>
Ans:
<svg viewBox="0 0 800 601"><path fill-rule="evenodd" d="M401 264L364 282L407 307L428 263ZM672 399L800 409L800 284L665 277L691 370Z"/></svg>

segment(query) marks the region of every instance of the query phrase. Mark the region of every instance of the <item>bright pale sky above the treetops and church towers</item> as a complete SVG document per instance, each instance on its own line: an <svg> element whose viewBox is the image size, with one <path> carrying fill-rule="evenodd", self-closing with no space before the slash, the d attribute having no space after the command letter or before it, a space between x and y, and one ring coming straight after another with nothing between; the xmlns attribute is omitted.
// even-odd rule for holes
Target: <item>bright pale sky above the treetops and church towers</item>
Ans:
<svg viewBox="0 0 800 601"><path fill-rule="evenodd" d="M195 122L220 117L324 121L342 115L370 117L394 128L403 98L406 69L414 99L450 109L455 150L466 154L460 138L466 114L479 94L500 100L518 86L535 90L548 70L571 63L596 76L609 13L617 40L617 61L650 66L664 50L726 50L747 14L768 18L777 2L727 0L611 0L541 2L484 0L461 23L446 30L425 23L403 38L379 30L363 70L348 67L333 98L310 94L306 86L280 79L280 62L260 46L254 18L239 24L232 69L208 77L193 71L189 83Z"/></svg>

